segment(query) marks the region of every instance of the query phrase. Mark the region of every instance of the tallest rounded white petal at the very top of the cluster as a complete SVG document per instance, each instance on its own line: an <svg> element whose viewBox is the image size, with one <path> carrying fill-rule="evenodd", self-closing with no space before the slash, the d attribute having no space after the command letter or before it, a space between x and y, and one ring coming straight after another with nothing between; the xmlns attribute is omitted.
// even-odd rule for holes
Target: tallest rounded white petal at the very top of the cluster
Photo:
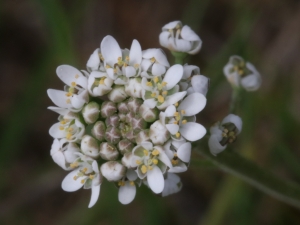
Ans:
<svg viewBox="0 0 300 225"><path fill-rule="evenodd" d="M101 53L107 64L113 66L122 57L122 51L118 42L110 35L103 38L101 42Z"/></svg>

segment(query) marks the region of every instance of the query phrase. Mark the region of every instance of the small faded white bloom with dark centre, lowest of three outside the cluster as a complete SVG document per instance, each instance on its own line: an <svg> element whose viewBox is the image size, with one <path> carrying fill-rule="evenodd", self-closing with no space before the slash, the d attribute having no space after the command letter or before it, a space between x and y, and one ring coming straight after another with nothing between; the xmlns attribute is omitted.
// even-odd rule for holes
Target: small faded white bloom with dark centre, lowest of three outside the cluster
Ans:
<svg viewBox="0 0 300 225"><path fill-rule="evenodd" d="M217 155L224 151L227 144L234 142L237 135L242 131L243 122L239 116L229 114L221 123L216 123L210 128L211 136L208 146L211 154Z"/></svg>

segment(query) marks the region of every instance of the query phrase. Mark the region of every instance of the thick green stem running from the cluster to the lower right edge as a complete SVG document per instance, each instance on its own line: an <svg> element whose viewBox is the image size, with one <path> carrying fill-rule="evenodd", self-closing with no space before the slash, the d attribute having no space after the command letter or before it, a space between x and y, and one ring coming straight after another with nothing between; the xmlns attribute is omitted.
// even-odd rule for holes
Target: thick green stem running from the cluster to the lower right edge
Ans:
<svg viewBox="0 0 300 225"><path fill-rule="evenodd" d="M266 194L300 209L300 187L297 184L280 179L235 152L224 151L215 157L208 149L194 150L225 172L238 176Z"/></svg>

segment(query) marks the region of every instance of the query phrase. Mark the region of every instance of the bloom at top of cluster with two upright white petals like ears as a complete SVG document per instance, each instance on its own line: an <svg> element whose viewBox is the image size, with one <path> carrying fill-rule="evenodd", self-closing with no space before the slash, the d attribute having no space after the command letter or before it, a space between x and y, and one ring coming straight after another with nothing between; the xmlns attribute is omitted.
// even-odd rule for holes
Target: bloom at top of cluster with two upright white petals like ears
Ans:
<svg viewBox="0 0 300 225"><path fill-rule="evenodd" d="M103 38L101 53L108 76L117 84L125 84L126 78L139 75L141 71L142 49L137 40L133 40L130 51L121 50L118 42L110 35ZM119 76L125 76L125 81Z"/></svg>

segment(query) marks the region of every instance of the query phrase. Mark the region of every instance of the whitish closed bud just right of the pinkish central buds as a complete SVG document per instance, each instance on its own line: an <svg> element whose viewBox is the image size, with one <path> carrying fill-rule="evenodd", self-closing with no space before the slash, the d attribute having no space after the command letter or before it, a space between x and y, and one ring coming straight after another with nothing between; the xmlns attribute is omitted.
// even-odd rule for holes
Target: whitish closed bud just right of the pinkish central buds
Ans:
<svg viewBox="0 0 300 225"><path fill-rule="evenodd" d="M153 144L162 145L170 138L170 133L167 128L157 120L150 126L149 137Z"/></svg>

